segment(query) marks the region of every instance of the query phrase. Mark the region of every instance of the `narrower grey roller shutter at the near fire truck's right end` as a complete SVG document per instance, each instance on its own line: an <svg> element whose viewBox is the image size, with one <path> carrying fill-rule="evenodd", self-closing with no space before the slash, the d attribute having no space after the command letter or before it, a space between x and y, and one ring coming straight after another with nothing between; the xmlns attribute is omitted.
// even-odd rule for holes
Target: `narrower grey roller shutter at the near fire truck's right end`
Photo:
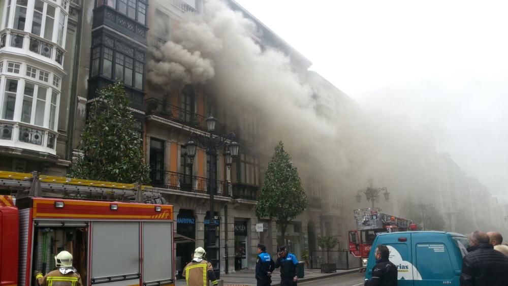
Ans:
<svg viewBox="0 0 508 286"><path fill-rule="evenodd" d="M172 221L143 223L143 282L170 282L173 278Z"/></svg>

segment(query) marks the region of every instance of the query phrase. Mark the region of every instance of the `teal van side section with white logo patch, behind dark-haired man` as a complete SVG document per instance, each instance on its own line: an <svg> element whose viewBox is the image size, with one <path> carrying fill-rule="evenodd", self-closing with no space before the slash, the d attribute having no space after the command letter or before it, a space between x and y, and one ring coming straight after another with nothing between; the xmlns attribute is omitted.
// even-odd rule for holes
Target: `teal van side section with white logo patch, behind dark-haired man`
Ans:
<svg viewBox="0 0 508 286"><path fill-rule="evenodd" d="M367 264L366 278L372 276L372 268L375 266L374 253L378 244L384 244L390 250L389 260L395 264L398 270L398 286L413 286L413 273L411 265L411 234L410 233L389 233L376 237L370 251Z"/></svg>

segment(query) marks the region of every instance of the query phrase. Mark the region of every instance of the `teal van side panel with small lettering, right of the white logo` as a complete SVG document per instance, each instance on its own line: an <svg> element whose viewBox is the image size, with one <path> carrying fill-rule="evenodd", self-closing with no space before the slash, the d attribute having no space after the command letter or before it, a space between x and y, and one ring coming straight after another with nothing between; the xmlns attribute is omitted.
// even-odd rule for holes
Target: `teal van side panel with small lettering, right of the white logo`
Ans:
<svg viewBox="0 0 508 286"><path fill-rule="evenodd" d="M444 233L412 235L415 286L459 285L455 269L455 245Z"/></svg>

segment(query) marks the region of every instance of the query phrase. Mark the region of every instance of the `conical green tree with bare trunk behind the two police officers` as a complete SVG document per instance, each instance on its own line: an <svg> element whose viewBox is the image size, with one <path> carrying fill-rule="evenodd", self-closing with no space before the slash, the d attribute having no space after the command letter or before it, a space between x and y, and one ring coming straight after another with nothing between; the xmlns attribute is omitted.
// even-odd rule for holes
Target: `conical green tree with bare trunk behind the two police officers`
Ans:
<svg viewBox="0 0 508 286"><path fill-rule="evenodd" d="M297 168L291 162L291 156L279 142L275 147L261 187L256 215L275 220L281 228L280 245L285 244L285 232L288 224L307 206L307 196L298 176Z"/></svg>

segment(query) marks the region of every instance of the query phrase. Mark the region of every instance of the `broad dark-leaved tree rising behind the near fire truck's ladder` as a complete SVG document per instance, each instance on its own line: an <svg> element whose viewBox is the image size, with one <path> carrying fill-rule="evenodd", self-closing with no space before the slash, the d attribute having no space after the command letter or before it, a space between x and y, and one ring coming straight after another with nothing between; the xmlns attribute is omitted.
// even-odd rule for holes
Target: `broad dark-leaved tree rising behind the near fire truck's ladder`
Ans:
<svg viewBox="0 0 508 286"><path fill-rule="evenodd" d="M147 183L150 169L128 96L119 82L99 91L89 109L78 148L83 152L71 168L74 178L121 183Z"/></svg>

